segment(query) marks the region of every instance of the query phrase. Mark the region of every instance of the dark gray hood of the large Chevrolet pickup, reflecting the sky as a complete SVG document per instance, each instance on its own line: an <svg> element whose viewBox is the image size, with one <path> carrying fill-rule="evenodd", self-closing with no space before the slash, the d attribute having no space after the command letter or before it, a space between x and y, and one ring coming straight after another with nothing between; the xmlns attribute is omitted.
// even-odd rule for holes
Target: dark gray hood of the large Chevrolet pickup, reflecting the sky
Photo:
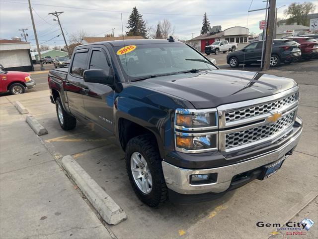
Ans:
<svg viewBox="0 0 318 239"><path fill-rule="evenodd" d="M196 109L270 96L297 85L290 78L235 70L162 76L132 84L187 100Z"/></svg>

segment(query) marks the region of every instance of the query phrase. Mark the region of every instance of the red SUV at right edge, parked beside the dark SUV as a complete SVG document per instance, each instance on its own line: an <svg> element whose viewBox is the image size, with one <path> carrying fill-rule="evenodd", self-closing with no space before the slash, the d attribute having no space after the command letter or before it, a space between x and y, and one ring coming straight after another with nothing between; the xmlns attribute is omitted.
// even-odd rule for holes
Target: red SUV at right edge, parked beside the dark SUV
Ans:
<svg viewBox="0 0 318 239"><path fill-rule="evenodd" d="M293 37L300 44L302 57L306 60L318 57L318 41L313 37Z"/></svg>

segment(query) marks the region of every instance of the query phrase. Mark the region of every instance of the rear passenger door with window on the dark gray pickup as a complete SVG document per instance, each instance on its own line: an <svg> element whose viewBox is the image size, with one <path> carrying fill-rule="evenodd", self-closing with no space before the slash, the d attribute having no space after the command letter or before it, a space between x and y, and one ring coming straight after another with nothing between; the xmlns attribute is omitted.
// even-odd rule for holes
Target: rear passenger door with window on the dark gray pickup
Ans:
<svg viewBox="0 0 318 239"><path fill-rule="evenodd" d="M83 103L83 72L87 69L89 48L79 49L75 52L72 66L64 83L64 90L69 102L69 108L75 116L84 117L85 109Z"/></svg>

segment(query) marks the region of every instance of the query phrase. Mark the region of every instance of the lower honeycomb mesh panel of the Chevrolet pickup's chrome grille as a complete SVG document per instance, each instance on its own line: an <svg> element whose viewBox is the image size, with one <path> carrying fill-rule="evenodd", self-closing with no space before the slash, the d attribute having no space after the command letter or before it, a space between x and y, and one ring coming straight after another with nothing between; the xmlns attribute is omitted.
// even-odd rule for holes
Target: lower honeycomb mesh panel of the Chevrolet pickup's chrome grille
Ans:
<svg viewBox="0 0 318 239"><path fill-rule="evenodd" d="M272 125L265 124L225 135L225 148L233 148L267 138L287 128L294 121L296 112L287 114Z"/></svg>

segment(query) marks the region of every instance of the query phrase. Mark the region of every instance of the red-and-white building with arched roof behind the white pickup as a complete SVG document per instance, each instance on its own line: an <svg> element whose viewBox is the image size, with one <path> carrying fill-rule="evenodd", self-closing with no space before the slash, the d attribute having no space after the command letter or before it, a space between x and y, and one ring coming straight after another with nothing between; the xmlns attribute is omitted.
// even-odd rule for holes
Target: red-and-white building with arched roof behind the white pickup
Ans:
<svg viewBox="0 0 318 239"><path fill-rule="evenodd" d="M243 26L234 26L221 30L221 26L213 26L210 32L194 37L189 40L199 51L204 52L204 47L211 45L215 41L228 41L238 43L238 48L246 46L248 42L248 28Z"/></svg>

